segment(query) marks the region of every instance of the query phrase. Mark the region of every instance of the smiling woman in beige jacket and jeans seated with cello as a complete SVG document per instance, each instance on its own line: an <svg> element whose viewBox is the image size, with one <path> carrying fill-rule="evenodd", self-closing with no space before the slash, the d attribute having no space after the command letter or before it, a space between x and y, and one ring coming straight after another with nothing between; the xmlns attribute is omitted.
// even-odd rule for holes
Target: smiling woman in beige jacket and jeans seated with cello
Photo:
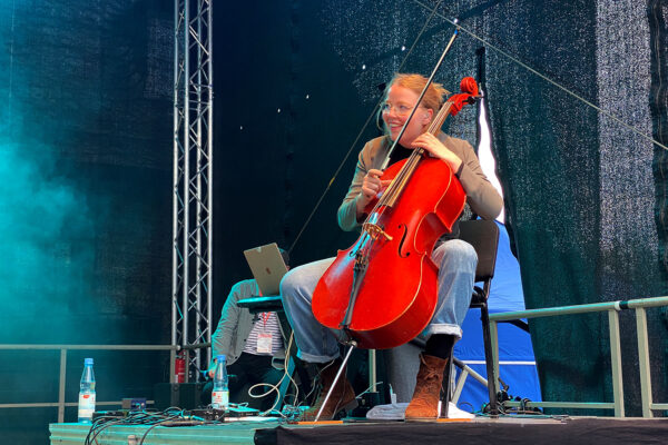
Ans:
<svg viewBox="0 0 668 445"><path fill-rule="evenodd" d="M423 148L429 156L449 165L466 194L466 202L475 214L484 219L493 219L500 214L502 198L482 172L471 145L442 132L434 136L426 131L445 95L439 83L431 83L422 101L418 103L426 82L428 79L420 75L396 75L391 81L382 106L385 136L366 142L358 155L353 181L338 208L338 225L342 229L358 228L365 219L367 205L387 186L389 181L381 180L383 172L379 168L414 108L415 112L392 152L390 162L407 158L414 148ZM462 336L461 324L469 309L478 261L473 247L456 239L456 228L436 243L431 258L439 267L438 301L434 314L422 333L426 346L420 356L415 390L406 408L407 421L438 418L443 370L454 343ZM298 356L305 362L318 364L323 386L321 396L305 413L305 419L313 419L321 409L338 368L336 333L321 325L312 310L314 289L333 261L334 258L330 258L292 269L281 284L283 305L294 329ZM321 418L331 419L341 408L354 403L353 388L343 375L322 409Z"/></svg>

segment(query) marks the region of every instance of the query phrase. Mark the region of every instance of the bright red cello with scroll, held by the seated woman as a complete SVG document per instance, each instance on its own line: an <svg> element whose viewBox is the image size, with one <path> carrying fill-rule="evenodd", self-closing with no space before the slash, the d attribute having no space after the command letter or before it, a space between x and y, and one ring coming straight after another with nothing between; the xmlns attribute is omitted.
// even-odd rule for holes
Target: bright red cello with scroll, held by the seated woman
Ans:
<svg viewBox="0 0 668 445"><path fill-rule="evenodd" d="M479 97L473 78L462 79L460 89L434 116L429 132L436 135L449 116ZM381 179L391 182L366 206L360 237L338 251L312 300L322 325L374 349L415 338L431 320L439 274L431 253L452 230L466 198L448 164L423 148L390 166Z"/></svg>

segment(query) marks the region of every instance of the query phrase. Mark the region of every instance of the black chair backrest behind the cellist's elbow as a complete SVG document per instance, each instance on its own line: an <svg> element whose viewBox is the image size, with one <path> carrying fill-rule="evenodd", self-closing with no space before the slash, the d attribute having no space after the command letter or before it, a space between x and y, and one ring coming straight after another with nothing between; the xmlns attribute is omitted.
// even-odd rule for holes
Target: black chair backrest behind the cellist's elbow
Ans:
<svg viewBox="0 0 668 445"><path fill-rule="evenodd" d="M497 249L499 247L499 226L497 226L497 222L484 219L460 221L460 239L473 246L478 254L475 281L485 281L493 278Z"/></svg>

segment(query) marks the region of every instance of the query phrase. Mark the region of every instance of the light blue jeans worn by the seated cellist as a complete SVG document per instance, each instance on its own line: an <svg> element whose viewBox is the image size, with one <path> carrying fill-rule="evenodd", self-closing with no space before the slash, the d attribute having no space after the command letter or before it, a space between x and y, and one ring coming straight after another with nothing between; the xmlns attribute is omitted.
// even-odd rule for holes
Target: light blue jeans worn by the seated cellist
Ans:
<svg viewBox="0 0 668 445"><path fill-rule="evenodd" d="M421 334L462 336L461 325L471 304L478 255L470 244L451 239L438 246L432 259L439 266L439 300L434 316ZM299 352L310 363L325 363L338 357L337 332L321 325L311 309L315 286L334 258L322 259L291 269L281 281L283 307L293 327Z"/></svg>

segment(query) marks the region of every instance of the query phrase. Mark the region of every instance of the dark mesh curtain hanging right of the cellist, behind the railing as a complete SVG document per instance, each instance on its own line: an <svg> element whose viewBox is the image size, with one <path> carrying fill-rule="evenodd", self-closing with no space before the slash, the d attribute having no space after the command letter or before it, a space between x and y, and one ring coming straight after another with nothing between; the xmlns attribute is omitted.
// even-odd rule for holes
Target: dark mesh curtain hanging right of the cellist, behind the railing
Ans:
<svg viewBox="0 0 668 445"><path fill-rule="evenodd" d="M570 92L490 53L494 151L527 307L664 295L665 239L655 214L665 205L656 199L665 178L652 165L665 151L583 103L651 134L650 66L665 44L650 39L661 30L647 4L515 1L499 12L490 36L502 29L505 50ZM655 111L655 126L662 113ZM665 310L648 317L658 395L666 387ZM639 415L635 317L625 312L620 322L627 414ZM531 329L547 399L611 402L606 314L540 319Z"/></svg>

